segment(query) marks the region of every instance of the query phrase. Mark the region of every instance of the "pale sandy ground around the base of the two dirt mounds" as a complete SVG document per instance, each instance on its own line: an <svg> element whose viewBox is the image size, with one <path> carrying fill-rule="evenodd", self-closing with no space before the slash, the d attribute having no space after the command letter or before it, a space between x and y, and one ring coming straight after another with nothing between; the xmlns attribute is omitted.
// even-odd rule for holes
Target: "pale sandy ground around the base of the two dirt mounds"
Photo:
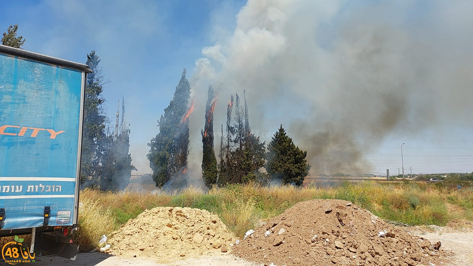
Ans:
<svg viewBox="0 0 473 266"><path fill-rule="evenodd" d="M413 233L430 239L432 242L441 241L444 250L453 251L451 260L445 260L442 266L473 265L473 230L442 231L414 228ZM57 256L41 256L36 258L35 265L66 265L66 266L262 266L235 257L232 254L216 253L200 257L189 257L169 264L161 264L149 258L115 257L102 252L80 253L76 261L66 260Z"/></svg>

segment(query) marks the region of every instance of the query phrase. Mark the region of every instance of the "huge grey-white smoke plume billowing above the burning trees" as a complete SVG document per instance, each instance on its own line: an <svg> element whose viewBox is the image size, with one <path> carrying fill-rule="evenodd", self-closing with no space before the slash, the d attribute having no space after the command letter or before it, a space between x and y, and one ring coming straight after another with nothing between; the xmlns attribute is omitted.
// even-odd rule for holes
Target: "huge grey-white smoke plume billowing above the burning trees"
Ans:
<svg viewBox="0 0 473 266"><path fill-rule="evenodd" d="M249 0L233 33L220 31L196 61L191 142L200 138L210 83L223 101L216 132L223 99L246 89L252 129L282 123L307 150L310 174L325 165L369 171L368 141L470 116L472 9L471 1ZM201 160L200 147L192 153Z"/></svg>

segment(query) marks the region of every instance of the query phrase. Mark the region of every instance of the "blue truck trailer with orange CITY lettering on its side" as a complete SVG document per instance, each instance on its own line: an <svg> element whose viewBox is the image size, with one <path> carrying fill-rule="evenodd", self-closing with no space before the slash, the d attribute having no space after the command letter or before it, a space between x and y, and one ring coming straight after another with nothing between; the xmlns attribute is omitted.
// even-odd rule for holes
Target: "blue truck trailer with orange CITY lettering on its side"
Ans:
<svg viewBox="0 0 473 266"><path fill-rule="evenodd" d="M87 65L0 45L0 237L75 259Z"/></svg>

